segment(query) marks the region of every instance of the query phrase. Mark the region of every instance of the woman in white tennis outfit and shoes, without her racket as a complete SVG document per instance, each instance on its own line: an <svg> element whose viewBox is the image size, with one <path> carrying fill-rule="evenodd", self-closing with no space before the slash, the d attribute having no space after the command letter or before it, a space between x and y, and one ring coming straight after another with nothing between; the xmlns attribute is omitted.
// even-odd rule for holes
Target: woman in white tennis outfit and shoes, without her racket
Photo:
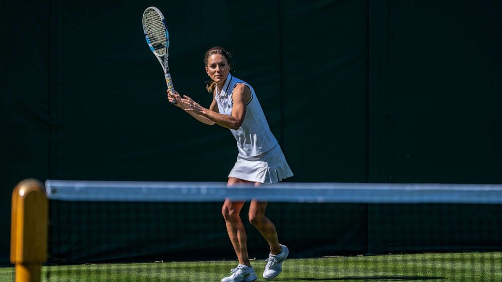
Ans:
<svg viewBox="0 0 502 282"><path fill-rule="evenodd" d="M171 95L170 103L185 110L198 121L229 128L237 140L239 154L228 175L228 186L240 183L277 183L293 173L289 168L277 139L270 131L255 90L246 82L230 74L230 54L221 47L208 50L204 56L205 71L211 78L207 91L213 93L209 109L200 106L190 97L179 93ZM239 260L230 276L222 282L254 281L258 277L249 262L246 246L246 231L239 216L244 202L226 200L222 207L228 236ZM282 271L282 262L289 253L286 246L279 244L274 223L265 217L267 202L251 201L249 221L270 245L269 258L263 272L267 279L275 278Z"/></svg>

